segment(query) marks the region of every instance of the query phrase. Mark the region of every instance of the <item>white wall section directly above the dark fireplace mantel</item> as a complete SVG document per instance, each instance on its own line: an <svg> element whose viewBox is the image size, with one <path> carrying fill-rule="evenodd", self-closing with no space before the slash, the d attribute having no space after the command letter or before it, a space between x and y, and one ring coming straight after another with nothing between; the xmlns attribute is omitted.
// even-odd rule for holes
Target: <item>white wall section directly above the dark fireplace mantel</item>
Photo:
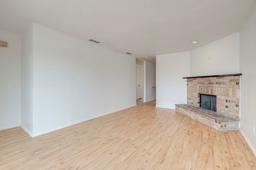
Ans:
<svg viewBox="0 0 256 170"><path fill-rule="evenodd" d="M190 76L234 73L240 73L239 32L190 51Z"/></svg>

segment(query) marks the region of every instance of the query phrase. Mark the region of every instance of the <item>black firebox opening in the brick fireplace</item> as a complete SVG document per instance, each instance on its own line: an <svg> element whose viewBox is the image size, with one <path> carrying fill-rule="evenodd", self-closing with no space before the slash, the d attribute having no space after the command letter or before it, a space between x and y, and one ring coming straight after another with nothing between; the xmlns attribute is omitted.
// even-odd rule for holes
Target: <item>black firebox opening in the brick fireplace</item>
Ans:
<svg viewBox="0 0 256 170"><path fill-rule="evenodd" d="M216 112L216 96L200 94L200 107Z"/></svg>

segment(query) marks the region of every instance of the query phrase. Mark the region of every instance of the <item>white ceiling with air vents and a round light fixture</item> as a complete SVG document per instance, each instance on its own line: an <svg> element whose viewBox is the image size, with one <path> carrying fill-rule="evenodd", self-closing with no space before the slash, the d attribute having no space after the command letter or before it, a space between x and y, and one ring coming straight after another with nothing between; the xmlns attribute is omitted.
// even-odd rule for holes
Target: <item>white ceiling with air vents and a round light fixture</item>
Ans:
<svg viewBox="0 0 256 170"><path fill-rule="evenodd" d="M30 23L154 62L238 32L256 0L0 0L0 29ZM192 40L198 40L192 44ZM147 59L146 59L147 58Z"/></svg>

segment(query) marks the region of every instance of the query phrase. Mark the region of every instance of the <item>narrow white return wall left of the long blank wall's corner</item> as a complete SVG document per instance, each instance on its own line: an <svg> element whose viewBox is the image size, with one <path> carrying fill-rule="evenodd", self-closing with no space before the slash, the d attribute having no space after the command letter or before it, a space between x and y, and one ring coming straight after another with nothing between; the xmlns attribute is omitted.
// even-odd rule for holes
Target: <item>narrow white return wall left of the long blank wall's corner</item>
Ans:
<svg viewBox="0 0 256 170"><path fill-rule="evenodd" d="M33 26L22 34L21 50L21 123L33 135Z"/></svg>

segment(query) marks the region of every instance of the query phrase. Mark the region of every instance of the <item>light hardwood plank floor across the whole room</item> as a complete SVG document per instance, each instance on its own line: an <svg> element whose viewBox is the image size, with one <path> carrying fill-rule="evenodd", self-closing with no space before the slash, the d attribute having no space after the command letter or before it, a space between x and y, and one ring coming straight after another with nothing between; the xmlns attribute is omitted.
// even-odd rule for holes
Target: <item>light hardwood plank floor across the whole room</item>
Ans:
<svg viewBox="0 0 256 170"><path fill-rule="evenodd" d="M31 138L0 131L0 169L253 170L236 131L219 132L155 101Z"/></svg>

